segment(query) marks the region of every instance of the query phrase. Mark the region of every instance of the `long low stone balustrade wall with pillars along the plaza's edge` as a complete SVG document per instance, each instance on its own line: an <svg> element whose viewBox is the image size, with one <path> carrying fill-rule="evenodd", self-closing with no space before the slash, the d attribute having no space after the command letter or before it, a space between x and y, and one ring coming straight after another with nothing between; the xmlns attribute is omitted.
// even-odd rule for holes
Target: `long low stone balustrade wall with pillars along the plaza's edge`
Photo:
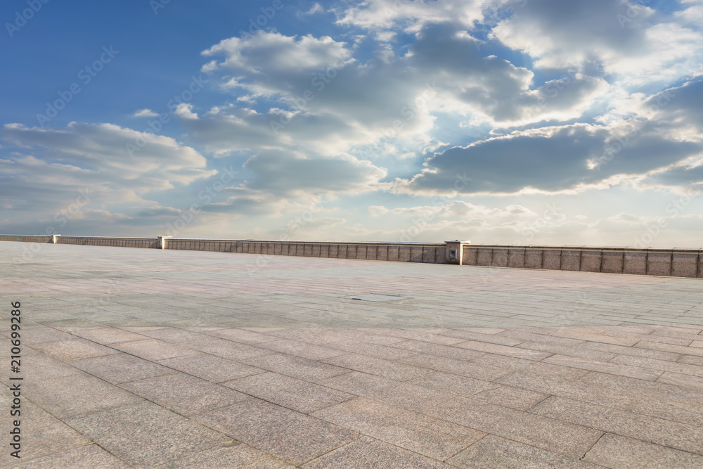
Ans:
<svg viewBox="0 0 703 469"><path fill-rule="evenodd" d="M702 249L0 235L0 241L703 278Z"/></svg>

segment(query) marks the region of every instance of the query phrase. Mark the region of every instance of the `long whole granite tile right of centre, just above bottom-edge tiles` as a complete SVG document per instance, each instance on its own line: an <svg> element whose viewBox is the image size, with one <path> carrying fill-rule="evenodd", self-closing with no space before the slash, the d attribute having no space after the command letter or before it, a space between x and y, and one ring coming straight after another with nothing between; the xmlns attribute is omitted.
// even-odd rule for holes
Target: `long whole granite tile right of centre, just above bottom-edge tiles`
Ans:
<svg viewBox="0 0 703 469"><path fill-rule="evenodd" d="M426 413L573 458L583 456L602 435L601 431L586 426L560 422L465 397L443 402Z"/></svg>

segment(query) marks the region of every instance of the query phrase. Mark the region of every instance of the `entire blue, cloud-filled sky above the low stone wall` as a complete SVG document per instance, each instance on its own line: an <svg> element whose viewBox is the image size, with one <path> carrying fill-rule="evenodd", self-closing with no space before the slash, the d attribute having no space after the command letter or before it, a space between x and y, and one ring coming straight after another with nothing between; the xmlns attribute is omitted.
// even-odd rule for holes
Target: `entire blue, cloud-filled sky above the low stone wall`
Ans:
<svg viewBox="0 0 703 469"><path fill-rule="evenodd" d="M0 21L0 233L703 246L703 0Z"/></svg>

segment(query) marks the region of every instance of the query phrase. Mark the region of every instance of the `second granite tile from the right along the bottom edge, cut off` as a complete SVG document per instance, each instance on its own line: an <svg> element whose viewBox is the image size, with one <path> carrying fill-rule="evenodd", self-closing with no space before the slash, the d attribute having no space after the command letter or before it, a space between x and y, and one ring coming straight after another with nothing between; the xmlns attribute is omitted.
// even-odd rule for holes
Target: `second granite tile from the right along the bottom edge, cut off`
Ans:
<svg viewBox="0 0 703 469"><path fill-rule="evenodd" d="M576 458L567 458L495 435L486 435L447 462L458 468L467 469L600 468L598 465L579 461Z"/></svg>

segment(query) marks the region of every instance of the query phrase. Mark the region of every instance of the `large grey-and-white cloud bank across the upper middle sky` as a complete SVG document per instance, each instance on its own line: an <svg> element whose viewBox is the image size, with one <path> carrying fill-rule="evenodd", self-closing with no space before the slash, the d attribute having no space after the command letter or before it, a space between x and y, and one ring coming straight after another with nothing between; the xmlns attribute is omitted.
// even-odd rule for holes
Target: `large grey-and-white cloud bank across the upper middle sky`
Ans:
<svg viewBox="0 0 703 469"><path fill-rule="evenodd" d="M424 25L403 56L366 63L354 60L346 44L323 39L259 32L207 49L207 56L223 57L207 70L240 105L216 106L183 125L218 154L255 151L266 141L328 156L372 148L378 158L407 158L437 146L438 113L453 115L455 125L467 119L503 125L566 120L607 88L602 79L580 73L532 87L530 70L480 56L472 38L447 23ZM314 66L254 53L269 43L300 49L297 54L308 57L302 64ZM337 65L330 66L335 56ZM269 107L262 109L257 103L264 98Z"/></svg>

